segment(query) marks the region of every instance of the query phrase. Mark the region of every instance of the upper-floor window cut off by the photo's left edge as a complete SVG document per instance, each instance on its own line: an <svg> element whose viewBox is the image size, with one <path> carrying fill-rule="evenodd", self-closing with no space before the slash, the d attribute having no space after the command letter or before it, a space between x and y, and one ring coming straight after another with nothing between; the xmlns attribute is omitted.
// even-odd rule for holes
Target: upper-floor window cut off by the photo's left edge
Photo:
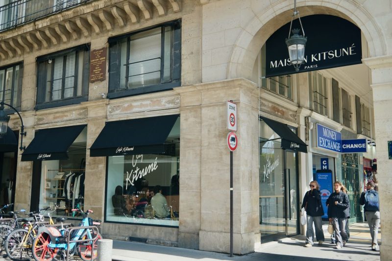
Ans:
<svg viewBox="0 0 392 261"><path fill-rule="evenodd" d="M20 108L23 64L0 68L0 101Z"/></svg>

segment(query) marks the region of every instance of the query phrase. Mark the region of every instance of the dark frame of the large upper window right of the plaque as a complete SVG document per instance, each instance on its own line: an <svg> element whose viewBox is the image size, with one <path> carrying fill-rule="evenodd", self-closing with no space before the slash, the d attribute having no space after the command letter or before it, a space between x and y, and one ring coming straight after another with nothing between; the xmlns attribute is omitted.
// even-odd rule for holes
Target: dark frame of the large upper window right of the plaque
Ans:
<svg viewBox="0 0 392 261"><path fill-rule="evenodd" d="M148 30L156 29L161 27L162 34L164 34L164 29L166 26L171 26L171 80L164 81L163 71L164 71L164 61L161 59L160 65L160 83L151 84L146 86L129 88L126 86L125 89L120 89L121 86L121 59L123 54L121 52L121 44L125 41L127 44L126 57L125 60L129 62L129 43L130 37L132 35L146 32ZM109 88L108 88L108 98L119 98L130 95L138 95L144 93L158 92L169 90L174 87L181 86L181 20L172 21L165 24L154 25L143 30L134 31L125 35L117 36L108 40L109 42ZM164 57L164 36L161 37L161 57ZM132 62L131 62L132 63ZM126 77L128 77L129 70L126 69ZM125 81L127 85L127 81Z"/></svg>

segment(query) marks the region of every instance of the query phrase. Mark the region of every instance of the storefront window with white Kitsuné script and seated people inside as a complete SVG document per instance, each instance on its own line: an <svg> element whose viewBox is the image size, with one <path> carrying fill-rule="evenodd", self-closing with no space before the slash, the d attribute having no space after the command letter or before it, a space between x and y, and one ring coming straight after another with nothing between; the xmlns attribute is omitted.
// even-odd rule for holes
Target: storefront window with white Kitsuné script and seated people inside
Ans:
<svg viewBox="0 0 392 261"><path fill-rule="evenodd" d="M178 226L179 118L165 153L108 156L106 221Z"/></svg>

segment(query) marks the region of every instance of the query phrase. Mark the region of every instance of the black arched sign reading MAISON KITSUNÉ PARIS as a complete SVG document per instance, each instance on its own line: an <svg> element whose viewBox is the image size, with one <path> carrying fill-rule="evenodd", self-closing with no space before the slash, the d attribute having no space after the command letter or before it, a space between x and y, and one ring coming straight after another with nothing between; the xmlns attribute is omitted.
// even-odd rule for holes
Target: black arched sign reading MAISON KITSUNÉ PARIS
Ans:
<svg viewBox="0 0 392 261"><path fill-rule="evenodd" d="M305 16L301 22L308 41L298 72L361 63L361 30L355 24L332 15ZM292 28L300 28L298 19ZM289 29L290 23L283 25L266 42L266 77L296 73L285 43Z"/></svg>

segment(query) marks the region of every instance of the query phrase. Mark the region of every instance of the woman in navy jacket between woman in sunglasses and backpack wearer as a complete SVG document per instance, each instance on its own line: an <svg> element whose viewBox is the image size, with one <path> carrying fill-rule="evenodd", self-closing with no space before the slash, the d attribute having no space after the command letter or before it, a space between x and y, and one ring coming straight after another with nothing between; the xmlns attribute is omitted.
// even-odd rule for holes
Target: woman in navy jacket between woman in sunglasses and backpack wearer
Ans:
<svg viewBox="0 0 392 261"><path fill-rule="evenodd" d="M327 199L328 217L335 230L336 249L341 249L347 241L346 225L350 216L347 190L340 181L334 183L335 192Z"/></svg>

